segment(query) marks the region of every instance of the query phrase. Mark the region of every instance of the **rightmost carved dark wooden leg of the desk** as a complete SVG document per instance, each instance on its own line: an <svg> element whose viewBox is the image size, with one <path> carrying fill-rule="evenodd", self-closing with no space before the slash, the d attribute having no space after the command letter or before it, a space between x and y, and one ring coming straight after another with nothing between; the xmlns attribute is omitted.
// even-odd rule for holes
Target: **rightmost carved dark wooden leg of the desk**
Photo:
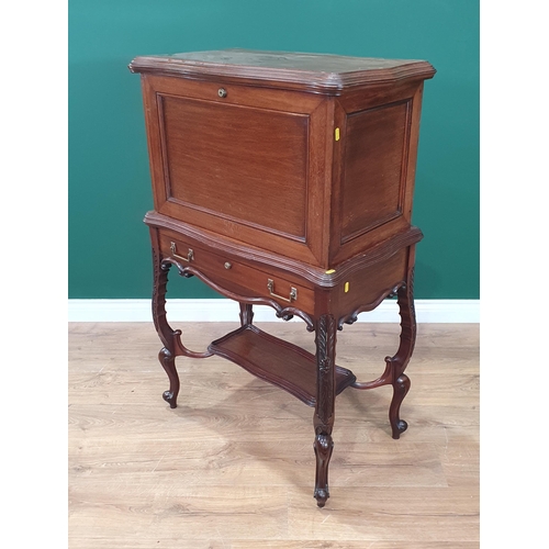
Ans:
<svg viewBox="0 0 549 549"><path fill-rule="evenodd" d="M386 357L385 362L391 368L391 384L393 385L393 399L389 408L389 421L393 432L393 438L400 438L401 433L407 429L407 424L400 418L400 410L404 396L410 390L410 379L404 373L406 366L414 351L416 337L416 322L414 309L414 271L408 273L407 283L399 288L399 314L401 315L401 340L399 350L394 357Z"/></svg>

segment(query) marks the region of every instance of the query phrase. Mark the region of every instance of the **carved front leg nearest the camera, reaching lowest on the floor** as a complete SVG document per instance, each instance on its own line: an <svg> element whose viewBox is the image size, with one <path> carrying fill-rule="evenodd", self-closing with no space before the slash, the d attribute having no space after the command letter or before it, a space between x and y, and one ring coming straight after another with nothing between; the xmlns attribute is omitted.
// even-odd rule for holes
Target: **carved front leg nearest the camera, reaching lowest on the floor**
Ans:
<svg viewBox="0 0 549 549"><path fill-rule="evenodd" d="M314 497L318 507L324 507L329 497L328 464L334 441L335 403L335 349L336 322L332 315L322 315L316 322L316 403L314 411L314 452L316 456L316 479Z"/></svg>

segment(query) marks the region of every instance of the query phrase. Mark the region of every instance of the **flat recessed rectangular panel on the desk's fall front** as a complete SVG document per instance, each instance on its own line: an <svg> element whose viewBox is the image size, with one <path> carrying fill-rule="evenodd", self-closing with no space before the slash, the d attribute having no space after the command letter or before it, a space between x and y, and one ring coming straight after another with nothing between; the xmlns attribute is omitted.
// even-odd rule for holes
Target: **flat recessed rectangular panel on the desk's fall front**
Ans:
<svg viewBox="0 0 549 549"><path fill-rule="evenodd" d="M169 202L306 240L309 116L158 96Z"/></svg>

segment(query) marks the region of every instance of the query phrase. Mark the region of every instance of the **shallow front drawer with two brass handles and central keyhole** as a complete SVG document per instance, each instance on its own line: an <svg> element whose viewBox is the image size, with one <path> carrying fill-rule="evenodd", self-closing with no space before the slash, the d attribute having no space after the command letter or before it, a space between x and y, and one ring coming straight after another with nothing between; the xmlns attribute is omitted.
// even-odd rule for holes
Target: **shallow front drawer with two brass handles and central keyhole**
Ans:
<svg viewBox="0 0 549 549"><path fill-rule="evenodd" d="M164 257L175 259L181 267L192 267L224 294L232 292L244 298L268 298L280 306L294 306L309 314L314 312L314 291L284 278L283 271L268 266L250 266L238 258L197 246L184 236L160 233ZM200 274L199 274L200 278ZM208 281L205 281L208 282Z"/></svg>

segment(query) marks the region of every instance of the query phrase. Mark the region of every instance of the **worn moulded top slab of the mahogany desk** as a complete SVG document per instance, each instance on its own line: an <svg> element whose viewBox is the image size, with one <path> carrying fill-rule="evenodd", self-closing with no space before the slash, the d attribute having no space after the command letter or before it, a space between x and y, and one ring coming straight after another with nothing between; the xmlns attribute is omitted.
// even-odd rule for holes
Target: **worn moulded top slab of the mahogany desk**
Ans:
<svg viewBox="0 0 549 549"><path fill-rule="evenodd" d="M189 78L234 78L290 83L320 90L433 78L430 63L417 59L382 59L327 54L224 49L173 55L138 56L132 72L153 72Z"/></svg>

